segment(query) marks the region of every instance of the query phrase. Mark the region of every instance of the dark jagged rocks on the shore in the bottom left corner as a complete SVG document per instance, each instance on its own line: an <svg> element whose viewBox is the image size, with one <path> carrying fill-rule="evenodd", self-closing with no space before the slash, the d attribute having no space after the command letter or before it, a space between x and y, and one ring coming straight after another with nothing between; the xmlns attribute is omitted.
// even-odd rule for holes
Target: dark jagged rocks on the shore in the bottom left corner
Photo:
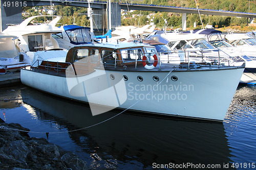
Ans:
<svg viewBox="0 0 256 170"><path fill-rule="evenodd" d="M0 126L29 131L19 124ZM0 129L0 169L89 169L87 162L45 138L30 138L27 132Z"/></svg>

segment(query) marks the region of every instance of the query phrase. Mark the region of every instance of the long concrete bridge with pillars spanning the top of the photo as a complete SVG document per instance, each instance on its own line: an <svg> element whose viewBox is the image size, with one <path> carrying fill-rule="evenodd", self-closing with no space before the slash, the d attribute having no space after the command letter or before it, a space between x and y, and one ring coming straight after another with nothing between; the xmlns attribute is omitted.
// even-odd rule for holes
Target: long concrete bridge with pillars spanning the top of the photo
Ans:
<svg viewBox="0 0 256 170"><path fill-rule="evenodd" d="M7 1L7 0L0 0ZM26 6L50 6L50 3L54 5L63 5L63 6L74 6L74 7L84 7L88 8L88 1L86 0L18 0L20 4ZM2 4L1 3L1 4ZM91 3L91 7L94 9L94 13L100 15L94 15L94 20L99 20L98 23L101 23L97 26L97 28L103 28L102 23L104 19L103 16L108 15L107 12L103 12L102 9L108 8L107 1L94 1ZM186 14L193 13L198 14L198 10L195 8L184 8L184 7L172 7L172 6L157 6L157 5L144 5L144 4L122 4L122 3L112 3L112 26L120 26L121 25L121 9L126 10L143 10L143 11L160 11L160 12L174 12L174 13L182 13L182 30L186 29ZM3 5L1 6L1 29L4 30L7 28L6 23L20 23L22 21L21 17L21 7L20 13L15 14L15 16L6 16L5 9ZM256 18L255 13L243 13L243 12L234 12L234 11L223 11L223 10L208 10L208 9L199 9L200 14L207 15L221 15L221 16L233 16L233 17L246 17L246 18ZM108 17L107 17L108 18ZM104 28L106 28L104 26ZM2 31L1 30L1 31Z"/></svg>

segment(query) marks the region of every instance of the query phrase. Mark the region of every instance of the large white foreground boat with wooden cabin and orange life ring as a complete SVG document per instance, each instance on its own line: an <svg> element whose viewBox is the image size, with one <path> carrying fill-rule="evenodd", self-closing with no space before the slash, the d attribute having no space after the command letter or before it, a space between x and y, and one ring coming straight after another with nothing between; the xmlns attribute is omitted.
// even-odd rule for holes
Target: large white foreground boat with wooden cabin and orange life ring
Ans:
<svg viewBox="0 0 256 170"><path fill-rule="evenodd" d="M76 45L62 62L38 64L21 70L23 84L89 103L93 115L117 108L215 121L224 119L244 71L244 66L162 63L154 46L133 42Z"/></svg>

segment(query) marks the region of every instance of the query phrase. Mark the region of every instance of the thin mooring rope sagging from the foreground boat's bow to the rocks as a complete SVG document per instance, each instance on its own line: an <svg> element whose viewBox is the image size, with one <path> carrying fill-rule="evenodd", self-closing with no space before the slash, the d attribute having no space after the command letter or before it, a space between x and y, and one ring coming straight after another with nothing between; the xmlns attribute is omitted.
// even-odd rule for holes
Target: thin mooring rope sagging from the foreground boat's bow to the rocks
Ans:
<svg viewBox="0 0 256 170"><path fill-rule="evenodd" d="M155 90L166 78L167 78L167 80L168 80L168 76L170 75L170 73L171 73L173 70L175 70L175 68L172 69L172 70L170 70L170 71L168 72L168 74L165 76L165 78L163 78L163 80L162 80L159 84L157 84L157 85L156 85L150 92L148 92L147 94L150 94L153 90ZM147 94L146 94L146 95L147 95ZM97 123L97 124L90 125L90 126L88 126L88 127L84 127L84 128L80 128L80 129L75 129L75 130L70 130L70 131L62 131L62 132L35 132L35 131L26 131L26 130L20 130L20 129L12 129L12 128L7 128L7 127L5 127L5 126L0 126L0 129L4 129L4 130L16 130L16 131L27 132L27 133L41 133L41 134L45 134L45 133L46 133L47 138L48 138L48 134L75 132L75 131L80 131L80 130L83 130L83 129L88 129L88 128L91 128L91 127L100 125L100 124L102 124L102 123L104 123L104 122L107 122L108 120L110 120L110 119L112 119L112 118L114 118L114 117L116 117L116 116L122 114L122 113L125 112L126 110L130 109L131 107L133 107L134 105L136 105L137 103L139 103L141 100L142 100L142 99L138 100L137 102L135 102L135 103L134 103L132 106L130 106L129 108L127 108L127 109L121 111L120 113L118 113L118 114L116 114L116 115L114 115L114 116L112 116L112 117L110 117L110 118L108 118L108 119L105 119L105 120L103 120L103 121L101 121L101 122L99 122L99 123Z"/></svg>

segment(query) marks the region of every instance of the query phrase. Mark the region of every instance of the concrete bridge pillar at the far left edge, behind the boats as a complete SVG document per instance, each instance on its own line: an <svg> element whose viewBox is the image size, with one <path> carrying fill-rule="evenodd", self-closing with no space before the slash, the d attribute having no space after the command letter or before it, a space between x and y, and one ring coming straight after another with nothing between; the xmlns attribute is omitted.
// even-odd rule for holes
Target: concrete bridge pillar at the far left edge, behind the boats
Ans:
<svg viewBox="0 0 256 170"><path fill-rule="evenodd" d="M0 8L0 32L7 29L7 27L8 27L7 24L8 23L12 23L12 24L22 23L22 10L21 10L21 8L20 8L20 13L7 16L2 2L0 4L0 6L1 6L1 8Z"/></svg>

